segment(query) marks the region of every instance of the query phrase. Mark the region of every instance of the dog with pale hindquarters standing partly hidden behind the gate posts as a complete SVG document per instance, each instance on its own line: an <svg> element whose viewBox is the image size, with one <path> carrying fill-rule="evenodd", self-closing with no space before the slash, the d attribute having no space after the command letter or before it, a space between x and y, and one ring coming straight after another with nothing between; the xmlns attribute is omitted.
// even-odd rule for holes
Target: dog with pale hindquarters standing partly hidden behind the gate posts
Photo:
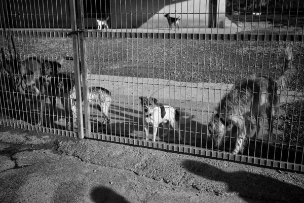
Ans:
<svg viewBox="0 0 304 203"><path fill-rule="evenodd" d="M67 74L59 73L54 82L56 95L60 97L61 104L65 111L68 111L69 118L66 118L68 129L73 129L77 125L77 107L76 107L76 88L74 80ZM111 93L103 87L89 87L88 101L96 105L97 109L104 116L103 127L108 127L110 122L109 111L111 103ZM82 91L83 92L83 91ZM84 101L82 102L84 104ZM106 129L105 128L105 129Z"/></svg>

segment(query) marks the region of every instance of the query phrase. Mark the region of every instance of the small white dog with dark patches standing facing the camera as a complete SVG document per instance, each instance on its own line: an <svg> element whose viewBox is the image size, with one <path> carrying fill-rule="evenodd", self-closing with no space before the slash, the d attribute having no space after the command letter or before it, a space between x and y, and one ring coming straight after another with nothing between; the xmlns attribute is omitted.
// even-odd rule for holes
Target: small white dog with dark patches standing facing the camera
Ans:
<svg viewBox="0 0 304 203"><path fill-rule="evenodd" d="M164 137L168 136L170 125L176 130L178 141L182 142L182 137L179 134L179 112L170 106L156 106L157 99L153 97L140 96L140 105L143 112L143 127L146 134L146 141L149 139L148 125L153 125L153 142L155 142L157 129L160 123L164 124Z"/></svg>

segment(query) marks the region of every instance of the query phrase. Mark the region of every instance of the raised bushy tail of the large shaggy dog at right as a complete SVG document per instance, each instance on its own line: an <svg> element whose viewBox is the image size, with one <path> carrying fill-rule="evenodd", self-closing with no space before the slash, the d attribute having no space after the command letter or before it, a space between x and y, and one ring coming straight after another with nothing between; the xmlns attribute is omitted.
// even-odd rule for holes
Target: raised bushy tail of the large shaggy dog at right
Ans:
<svg viewBox="0 0 304 203"><path fill-rule="evenodd" d="M289 84L289 79L296 75L297 69L292 65L292 49L286 47L285 51L285 66L283 67L283 74L276 79L279 88L285 89Z"/></svg>

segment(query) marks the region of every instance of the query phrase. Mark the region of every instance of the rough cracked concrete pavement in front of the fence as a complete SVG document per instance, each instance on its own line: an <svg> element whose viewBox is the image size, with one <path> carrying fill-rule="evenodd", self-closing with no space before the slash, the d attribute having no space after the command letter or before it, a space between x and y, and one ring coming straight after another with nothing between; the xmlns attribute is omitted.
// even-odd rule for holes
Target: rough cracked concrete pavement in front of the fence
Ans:
<svg viewBox="0 0 304 203"><path fill-rule="evenodd" d="M8 127L0 166L1 202L304 200L303 174Z"/></svg>

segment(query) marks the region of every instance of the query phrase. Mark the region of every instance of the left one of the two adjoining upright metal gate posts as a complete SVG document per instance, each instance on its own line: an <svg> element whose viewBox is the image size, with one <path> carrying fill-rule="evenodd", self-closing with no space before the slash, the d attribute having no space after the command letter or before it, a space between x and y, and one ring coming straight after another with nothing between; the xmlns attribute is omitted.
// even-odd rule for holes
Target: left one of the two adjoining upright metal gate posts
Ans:
<svg viewBox="0 0 304 203"><path fill-rule="evenodd" d="M75 1L69 0L70 7L70 22L71 29L77 31L77 17ZM84 124L83 124L83 112L82 112L82 95L81 95L81 80L80 80L80 61L79 61L79 46L78 35L72 35L73 44L73 61L74 61L74 76L75 76L75 88L76 88L76 101L77 101L77 118L78 118L78 138L84 138Z"/></svg>

